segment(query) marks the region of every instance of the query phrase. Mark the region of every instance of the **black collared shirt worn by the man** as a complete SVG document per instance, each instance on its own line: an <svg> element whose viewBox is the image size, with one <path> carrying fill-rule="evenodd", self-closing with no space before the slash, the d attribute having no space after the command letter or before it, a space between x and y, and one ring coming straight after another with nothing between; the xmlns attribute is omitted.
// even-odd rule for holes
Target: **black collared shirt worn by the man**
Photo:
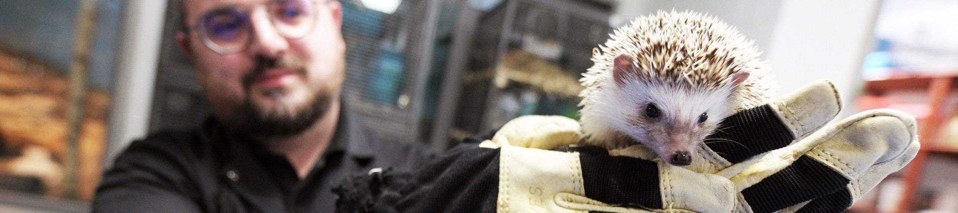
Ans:
<svg viewBox="0 0 958 213"><path fill-rule="evenodd" d="M241 138L215 119L199 130L135 141L103 175L94 212L332 212L331 187L354 173L411 171L431 157L377 136L343 105L330 148L304 179L285 156Z"/></svg>

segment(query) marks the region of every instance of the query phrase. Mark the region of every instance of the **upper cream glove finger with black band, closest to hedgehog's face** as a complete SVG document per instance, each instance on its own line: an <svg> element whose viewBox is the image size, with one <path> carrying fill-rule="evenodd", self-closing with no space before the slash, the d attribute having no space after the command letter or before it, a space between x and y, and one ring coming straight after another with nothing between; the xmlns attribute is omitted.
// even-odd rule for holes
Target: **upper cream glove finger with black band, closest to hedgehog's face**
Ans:
<svg viewBox="0 0 958 213"><path fill-rule="evenodd" d="M773 103L725 118L719 130L706 137L708 149L702 155L728 166L785 147L831 121L841 110L840 102L831 82L810 83Z"/></svg>

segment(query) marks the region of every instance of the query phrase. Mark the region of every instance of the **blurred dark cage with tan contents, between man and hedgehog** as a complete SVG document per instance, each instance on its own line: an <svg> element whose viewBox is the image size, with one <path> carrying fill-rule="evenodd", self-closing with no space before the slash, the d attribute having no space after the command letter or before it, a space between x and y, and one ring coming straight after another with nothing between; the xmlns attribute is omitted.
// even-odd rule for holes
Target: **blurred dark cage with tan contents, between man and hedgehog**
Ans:
<svg viewBox="0 0 958 213"><path fill-rule="evenodd" d="M580 0L503 1L476 17L464 59L453 140L524 114L575 116L578 80L608 39L611 7Z"/></svg>

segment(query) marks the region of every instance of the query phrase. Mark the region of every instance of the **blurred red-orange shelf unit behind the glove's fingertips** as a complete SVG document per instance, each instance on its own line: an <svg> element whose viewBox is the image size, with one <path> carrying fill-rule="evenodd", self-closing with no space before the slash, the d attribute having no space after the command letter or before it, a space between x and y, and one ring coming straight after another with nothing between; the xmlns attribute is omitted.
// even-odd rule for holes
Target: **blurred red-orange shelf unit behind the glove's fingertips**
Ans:
<svg viewBox="0 0 958 213"><path fill-rule="evenodd" d="M901 90L924 90L927 96L928 114L919 119L918 133L922 148L915 158L898 173L890 177L901 176L902 193L901 200L898 201L896 212L911 212L913 202L916 201L916 193L921 187L921 180L924 173L924 166L927 163L929 154L949 154L958 155L958 148L952 148L944 145L935 136L941 130L942 124L948 117L947 98L956 88L958 83L956 75L939 76L916 76L903 78L890 78L886 80L867 81L865 83L864 94L873 96L883 96L888 92ZM953 106L952 106L953 107ZM878 186L880 187L880 185ZM876 189L878 189L878 187ZM873 204L856 206L850 210L862 212L875 212L877 207Z"/></svg>

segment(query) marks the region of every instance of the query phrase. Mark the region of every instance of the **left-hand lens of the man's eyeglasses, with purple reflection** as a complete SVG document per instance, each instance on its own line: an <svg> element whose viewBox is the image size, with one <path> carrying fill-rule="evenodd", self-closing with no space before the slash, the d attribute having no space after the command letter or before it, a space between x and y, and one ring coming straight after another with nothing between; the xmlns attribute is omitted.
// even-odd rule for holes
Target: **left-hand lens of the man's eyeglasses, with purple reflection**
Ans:
<svg viewBox="0 0 958 213"><path fill-rule="evenodd" d="M249 43L250 23L246 14L224 9L207 13L202 19L204 42L219 53L241 50Z"/></svg>

